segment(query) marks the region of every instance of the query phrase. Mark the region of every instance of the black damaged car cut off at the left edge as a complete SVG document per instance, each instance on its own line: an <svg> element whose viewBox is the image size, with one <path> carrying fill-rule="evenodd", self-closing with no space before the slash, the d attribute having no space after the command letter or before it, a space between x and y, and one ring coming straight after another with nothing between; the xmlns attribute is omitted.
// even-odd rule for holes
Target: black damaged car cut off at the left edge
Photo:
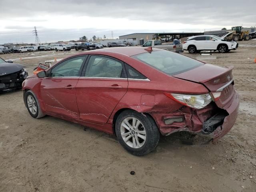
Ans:
<svg viewBox="0 0 256 192"><path fill-rule="evenodd" d="M22 88L22 82L27 78L28 72L22 64L14 64L0 58L0 92Z"/></svg>

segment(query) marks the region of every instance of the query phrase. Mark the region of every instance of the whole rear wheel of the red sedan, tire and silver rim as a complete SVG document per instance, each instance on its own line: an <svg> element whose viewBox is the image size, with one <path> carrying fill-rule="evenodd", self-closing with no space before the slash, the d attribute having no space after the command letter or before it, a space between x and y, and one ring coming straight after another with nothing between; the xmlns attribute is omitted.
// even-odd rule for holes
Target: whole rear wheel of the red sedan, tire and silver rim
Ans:
<svg viewBox="0 0 256 192"><path fill-rule="evenodd" d="M126 110L118 116L115 130L120 144L136 156L154 150L160 137L152 117L133 110Z"/></svg>

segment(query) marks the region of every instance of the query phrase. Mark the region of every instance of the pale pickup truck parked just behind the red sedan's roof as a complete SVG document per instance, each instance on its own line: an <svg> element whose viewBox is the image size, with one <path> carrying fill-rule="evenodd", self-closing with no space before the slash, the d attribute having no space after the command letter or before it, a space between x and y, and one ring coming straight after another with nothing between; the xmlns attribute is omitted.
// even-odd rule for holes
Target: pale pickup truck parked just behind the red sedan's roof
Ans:
<svg viewBox="0 0 256 192"><path fill-rule="evenodd" d="M162 40L148 40L142 47L153 47L168 51L183 52L182 44L162 44Z"/></svg>

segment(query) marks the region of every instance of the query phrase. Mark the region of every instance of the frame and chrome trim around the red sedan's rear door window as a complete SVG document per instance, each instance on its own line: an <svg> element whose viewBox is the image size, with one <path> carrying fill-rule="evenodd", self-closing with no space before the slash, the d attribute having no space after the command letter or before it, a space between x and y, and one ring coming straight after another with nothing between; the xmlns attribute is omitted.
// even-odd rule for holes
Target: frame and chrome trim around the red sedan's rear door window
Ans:
<svg viewBox="0 0 256 192"><path fill-rule="evenodd" d="M116 60L117 62L120 62L122 64L122 69L124 70L124 76L125 77L120 77L120 78L116 78L116 77L86 77L85 76L85 72L86 72L86 69L88 67L88 62L91 58L91 56L99 56L99 57L106 57L106 58L110 58L112 60ZM127 77L127 74L126 74L126 70L125 70L125 67L124 67L124 62L117 59L117 58L114 58L114 57L111 57L111 56L107 56L107 55L101 55L101 54L90 54L88 55L88 58L86 59L86 62L84 64L84 67L82 69L82 74L81 74L81 78L93 78L93 79L128 79Z"/></svg>

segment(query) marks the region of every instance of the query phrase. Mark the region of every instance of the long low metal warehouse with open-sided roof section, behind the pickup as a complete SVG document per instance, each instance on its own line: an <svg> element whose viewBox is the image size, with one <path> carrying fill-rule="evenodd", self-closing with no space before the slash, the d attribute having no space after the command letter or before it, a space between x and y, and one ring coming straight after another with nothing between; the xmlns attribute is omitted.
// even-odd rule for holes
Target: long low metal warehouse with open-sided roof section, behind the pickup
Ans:
<svg viewBox="0 0 256 192"><path fill-rule="evenodd" d="M128 42L132 42L133 45L139 45L140 44L140 39L144 39L144 42L146 42L147 40L152 40L154 35L158 35L158 36L162 36L165 37L166 40L168 39L168 36L171 36L172 39L174 38L183 38L183 37L190 37L190 36L196 36L196 35L203 35L204 33L194 33L194 32L190 32L190 33L133 33L133 34L128 34L128 35L123 35L123 36L119 36L119 39L124 39Z"/></svg>

